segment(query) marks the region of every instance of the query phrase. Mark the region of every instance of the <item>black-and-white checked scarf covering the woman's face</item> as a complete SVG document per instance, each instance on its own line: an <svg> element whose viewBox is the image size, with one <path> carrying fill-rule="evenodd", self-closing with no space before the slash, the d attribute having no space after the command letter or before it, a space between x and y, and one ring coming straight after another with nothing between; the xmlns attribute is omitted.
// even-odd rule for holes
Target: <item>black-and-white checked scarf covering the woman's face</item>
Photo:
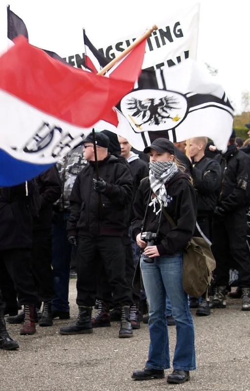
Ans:
<svg viewBox="0 0 250 391"><path fill-rule="evenodd" d="M150 202L149 206L154 205L154 212L156 212L156 202L160 206L167 207L167 190L165 183L178 172L176 164L170 160L167 162L152 162L149 163L149 183L153 193L156 197ZM158 214L161 210L156 213Z"/></svg>

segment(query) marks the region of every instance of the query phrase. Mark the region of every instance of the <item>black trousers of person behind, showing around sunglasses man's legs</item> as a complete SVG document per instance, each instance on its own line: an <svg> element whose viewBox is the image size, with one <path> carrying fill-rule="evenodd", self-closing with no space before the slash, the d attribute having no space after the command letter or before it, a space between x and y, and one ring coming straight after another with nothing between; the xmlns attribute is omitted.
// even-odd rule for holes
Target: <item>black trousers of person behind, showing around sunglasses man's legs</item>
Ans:
<svg viewBox="0 0 250 391"><path fill-rule="evenodd" d="M132 298L134 303L141 302L141 291L140 289L133 288L133 278L135 274L133 248L129 237L122 237L122 242L125 251L125 277L128 286L132 290ZM98 271L97 276L97 294L98 300L105 301L107 303L113 303L112 288L108 282L108 277L105 273L104 267L101 267Z"/></svg>

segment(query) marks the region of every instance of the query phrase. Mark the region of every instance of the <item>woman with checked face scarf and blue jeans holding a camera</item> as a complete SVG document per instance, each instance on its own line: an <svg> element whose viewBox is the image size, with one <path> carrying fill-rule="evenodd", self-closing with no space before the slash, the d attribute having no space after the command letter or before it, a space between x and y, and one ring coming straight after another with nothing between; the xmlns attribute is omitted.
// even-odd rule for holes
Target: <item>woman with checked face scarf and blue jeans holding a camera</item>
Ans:
<svg viewBox="0 0 250 391"><path fill-rule="evenodd" d="M136 370L132 378L163 378L164 369L170 367L168 297L177 339L173 373L168 375L167 382L184 383L189 380L189 370L195 369L194 327L182 285L182 262L183 249L195 228L196 196L190 178L175 163L174 145L170 141L156 139L144 152L150 152L149 177L141 182L135 197L132 232L137 244L144 248L141 270L149 303L150 345L146 367ZM164 212L176 222L175 228ZM151 243L145 242L145 232L156 234L151 235L156 238Z"/></svg>

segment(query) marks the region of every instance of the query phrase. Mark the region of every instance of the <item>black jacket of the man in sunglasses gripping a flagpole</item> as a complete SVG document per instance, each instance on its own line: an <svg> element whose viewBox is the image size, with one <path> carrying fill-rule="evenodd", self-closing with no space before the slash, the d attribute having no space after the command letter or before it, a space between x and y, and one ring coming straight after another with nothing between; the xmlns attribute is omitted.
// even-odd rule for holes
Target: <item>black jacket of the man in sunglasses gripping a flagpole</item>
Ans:
<svg viewBox="0 0 250 391"><path fill-rule="evenodd" d="M133 178L120 159L108 155L98 162L99 175L107 183L99 212L99 196L93 187L95 162L90 161L77 175L70 196L68 236L122 236L127 229L133 199Z"/></svg>

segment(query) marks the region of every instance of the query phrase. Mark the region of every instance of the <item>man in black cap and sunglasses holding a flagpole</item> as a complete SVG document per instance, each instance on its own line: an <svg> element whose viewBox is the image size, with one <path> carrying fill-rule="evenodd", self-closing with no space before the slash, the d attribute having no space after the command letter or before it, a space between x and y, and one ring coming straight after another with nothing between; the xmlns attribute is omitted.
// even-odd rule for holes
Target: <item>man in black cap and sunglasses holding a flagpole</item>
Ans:
<svg viewBox="0 0 250 391"><path fill-rule="evenodd" d="M97 268L100 267L95 261L100 259L113 288L114 305L122 307L119 337L132 337L129 319L132 292L125 279L122 236L133 199L133 179L129 168L108 153L109 138L104 133L97 133L95 137L97 162L92 134L83 142L87 163L74 183L67 222L68 241L73 245L78 241L76 301L79 315L75 324L63 327L60 333L93 332L91 314L95 305Z"/></svg>

